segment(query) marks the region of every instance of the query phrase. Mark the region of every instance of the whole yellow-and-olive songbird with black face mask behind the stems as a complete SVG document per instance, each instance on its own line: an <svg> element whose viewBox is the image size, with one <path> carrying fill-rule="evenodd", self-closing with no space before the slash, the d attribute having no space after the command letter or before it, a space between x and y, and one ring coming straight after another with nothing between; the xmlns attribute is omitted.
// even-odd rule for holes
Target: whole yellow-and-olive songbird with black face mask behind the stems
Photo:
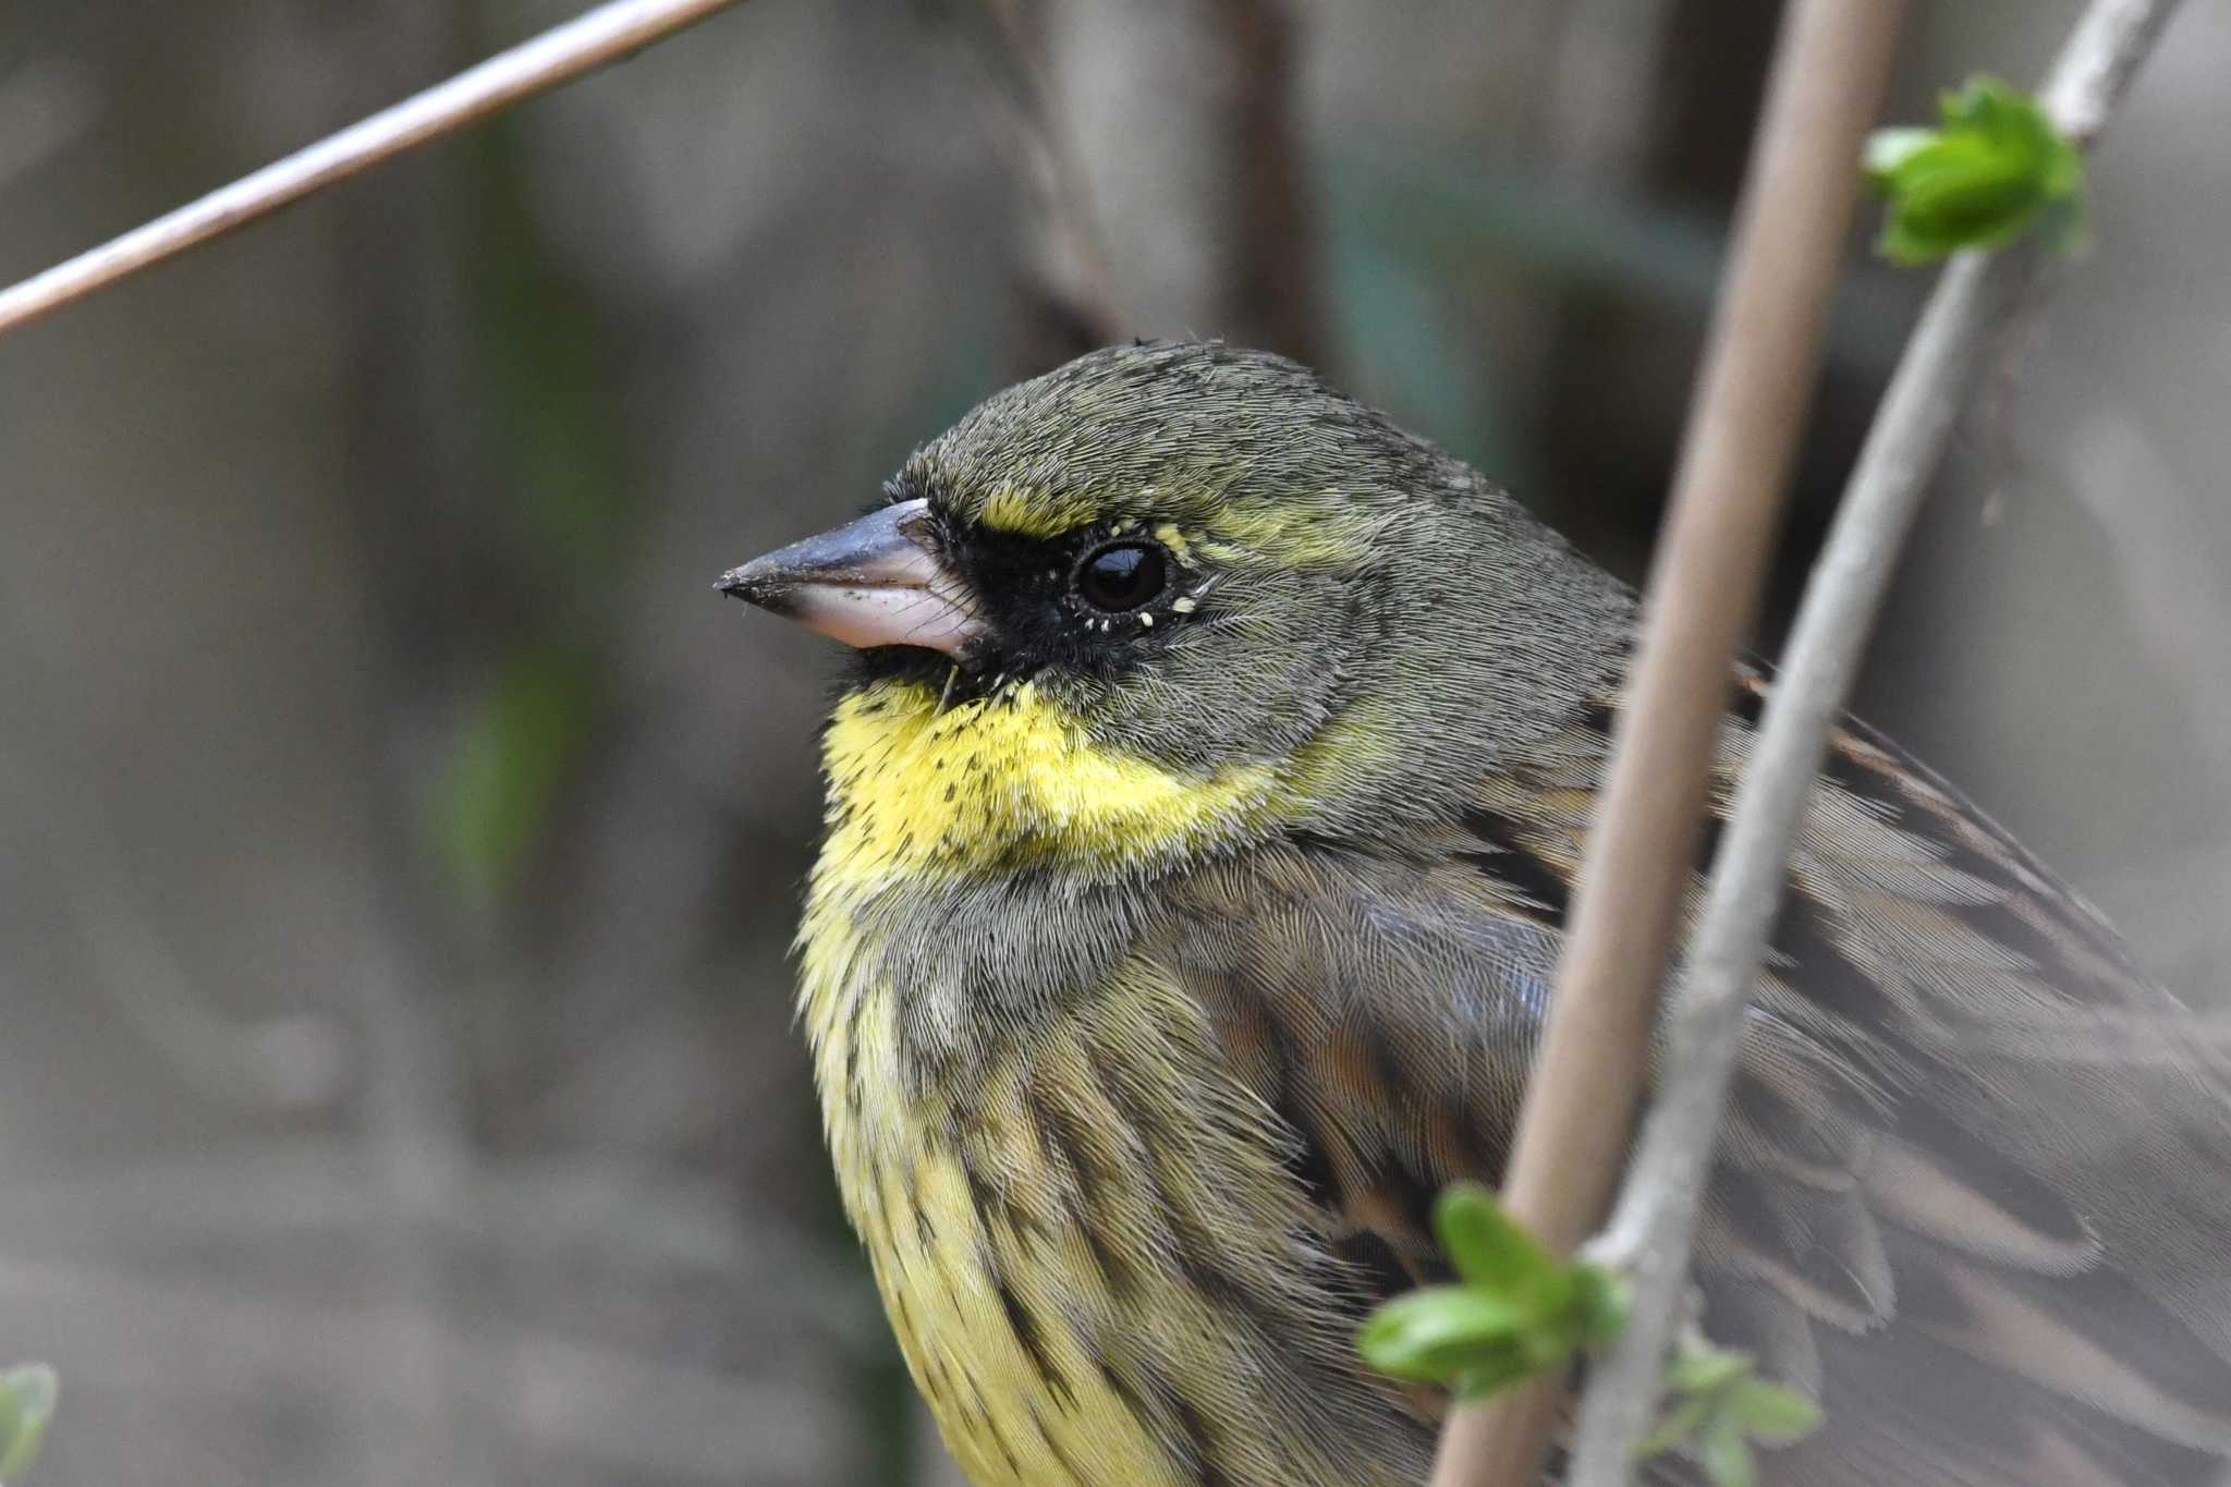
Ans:
<svg viewBox="0 0 2231 1487"><path fill-rule="evenodd" d="M1354 1333L1443 1273L1439 1188L1504 1166L1633 593L1220 343L1008 388L723 589L861 647L799 1005L968 1474L1419 1483L1441 1405ZM1769 687L1729 678L1716 811ZM1827 1413L1765 1480L2215 1480L2231 1099L2180 1019L1999 827L1836 733L1696 1257L1702 1329Z"/></svg>

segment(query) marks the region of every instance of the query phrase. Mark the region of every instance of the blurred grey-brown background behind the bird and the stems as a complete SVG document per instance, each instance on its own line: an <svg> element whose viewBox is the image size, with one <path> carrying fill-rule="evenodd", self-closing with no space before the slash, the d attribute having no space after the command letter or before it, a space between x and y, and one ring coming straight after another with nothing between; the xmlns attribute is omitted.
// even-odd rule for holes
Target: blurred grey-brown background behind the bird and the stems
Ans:
<svg viewBox="0 0 2231 1487"><path fill-rule="evenodd" d="M0 281L576 9L9 4ZM790 1030L834 658L714 575L1131 332L1307 357L1640 573L1776 9L754 0L0 343L36 1483L944 1480ZM1912 7L1892 118L2075 11ZM2184 7L1861 698L2209 1005L2224 76ZM1762 644L1925 285L1854 236Z"/></svg>

